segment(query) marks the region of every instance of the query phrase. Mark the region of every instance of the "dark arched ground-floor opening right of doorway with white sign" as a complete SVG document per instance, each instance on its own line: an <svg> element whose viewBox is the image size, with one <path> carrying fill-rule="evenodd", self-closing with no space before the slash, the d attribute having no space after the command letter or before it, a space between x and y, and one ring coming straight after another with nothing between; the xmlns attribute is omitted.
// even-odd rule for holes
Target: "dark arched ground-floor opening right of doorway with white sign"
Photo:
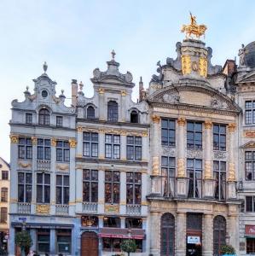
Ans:
<svg viewBox="0 0 255 256"><path fill-rule="evenodd" d="M213 255L220 254L220 248L226 244L226 219L223 216L216 216L213 219Z"/></svg>

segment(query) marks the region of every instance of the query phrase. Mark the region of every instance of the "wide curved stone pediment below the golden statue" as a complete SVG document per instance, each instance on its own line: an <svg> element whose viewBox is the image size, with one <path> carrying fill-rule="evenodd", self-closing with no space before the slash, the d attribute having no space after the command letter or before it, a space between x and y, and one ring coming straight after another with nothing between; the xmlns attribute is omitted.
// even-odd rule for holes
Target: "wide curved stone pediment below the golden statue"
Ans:
<svg viewBox="0 0 255 256"><path fill-rule="evenodd" d="M235 102L218 90L204 84L173 85L155 91L148 97L148 102L161 104L162 108L210 108L239 113Z"/></svg>

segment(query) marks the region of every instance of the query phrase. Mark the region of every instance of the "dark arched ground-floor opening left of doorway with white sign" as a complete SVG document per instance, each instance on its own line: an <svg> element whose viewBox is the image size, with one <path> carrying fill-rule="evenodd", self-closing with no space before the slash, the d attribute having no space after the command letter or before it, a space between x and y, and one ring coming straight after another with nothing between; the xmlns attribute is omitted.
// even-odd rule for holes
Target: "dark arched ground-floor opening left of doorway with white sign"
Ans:
<svg viewBox="0 0 255 256"><path fill-rule="evenodd" d="M173 256L175 253L175 218L171 213L161 217L161 256Z"/></svg>

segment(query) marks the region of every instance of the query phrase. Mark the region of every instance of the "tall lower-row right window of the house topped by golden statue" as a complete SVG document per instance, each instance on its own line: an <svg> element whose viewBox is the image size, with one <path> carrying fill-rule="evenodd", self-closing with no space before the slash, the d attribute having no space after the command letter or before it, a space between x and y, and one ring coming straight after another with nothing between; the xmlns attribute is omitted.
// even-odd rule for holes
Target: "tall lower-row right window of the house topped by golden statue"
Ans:
<svg viewBox="0 0 255 256"><path fill-rule="evenodd" d="M213 177L215 180L214 197L221 201L226 199L226 162L213 161Z"/></svg>

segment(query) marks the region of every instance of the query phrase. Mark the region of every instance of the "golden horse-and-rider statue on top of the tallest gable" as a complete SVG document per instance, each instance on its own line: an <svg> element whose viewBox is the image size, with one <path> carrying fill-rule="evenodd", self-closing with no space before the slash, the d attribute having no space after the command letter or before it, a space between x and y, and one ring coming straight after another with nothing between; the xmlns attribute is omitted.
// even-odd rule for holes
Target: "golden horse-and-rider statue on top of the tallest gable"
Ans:
<svg viewBox="0 0 255 256"><path fill-rule="evenodd" d="M189 25L183 25L181 32L186 32L186 38L192 38L192 35L194 35L196 38L200 38L201 35L205 36L206 32L206 25L197 25L196 23L196 17L194 15L190 14L190 24Z"/></svg>

